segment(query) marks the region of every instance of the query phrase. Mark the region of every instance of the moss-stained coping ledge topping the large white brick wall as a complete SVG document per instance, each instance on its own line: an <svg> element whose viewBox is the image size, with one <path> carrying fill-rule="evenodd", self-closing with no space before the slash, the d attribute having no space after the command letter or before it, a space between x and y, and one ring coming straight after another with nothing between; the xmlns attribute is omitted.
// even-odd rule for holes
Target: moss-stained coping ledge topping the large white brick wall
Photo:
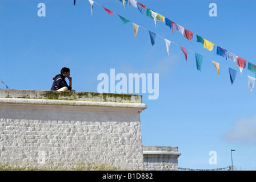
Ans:
<svg viewBox="0 0 256 182"><path fill-rule="evenodd" d="M0 102L5 104L130 107L137 108L139 112L147 108L145 104L142 104L141 95L46 90L0 89Z"/></svg>

